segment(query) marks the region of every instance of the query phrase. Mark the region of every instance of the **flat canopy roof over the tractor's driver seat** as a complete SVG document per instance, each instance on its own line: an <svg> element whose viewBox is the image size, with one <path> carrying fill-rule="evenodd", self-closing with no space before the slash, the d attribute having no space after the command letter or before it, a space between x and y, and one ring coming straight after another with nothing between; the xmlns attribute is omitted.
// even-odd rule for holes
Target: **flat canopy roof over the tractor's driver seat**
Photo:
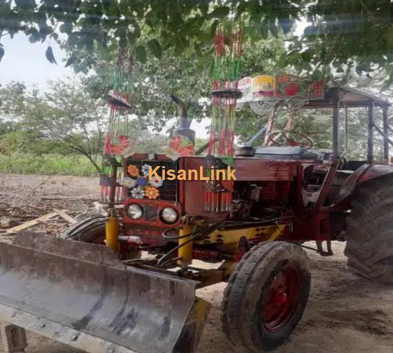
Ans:
<svg viewBox="0 0 393 353"><path fill-rule="evenodd" d="M339 99L342 106L347 105L348 108L367 107L372 102L374 102L374 105L380 108L387 108L392 105L390 101L376 97L374 94L365 93L361 90L356 90L350 87L336 86L326 90L325 99L319 99L315 101L310 100L308 103L303 105L303 109L332 108L334 98Z"/></svg>

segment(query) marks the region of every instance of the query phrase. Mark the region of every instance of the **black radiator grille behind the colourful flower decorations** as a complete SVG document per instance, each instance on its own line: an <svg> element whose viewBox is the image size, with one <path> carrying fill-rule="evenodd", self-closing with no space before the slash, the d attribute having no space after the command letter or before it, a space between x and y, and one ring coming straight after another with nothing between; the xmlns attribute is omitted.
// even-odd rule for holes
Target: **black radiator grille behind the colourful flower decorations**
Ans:
<svg viewBox="0 0 393 353"><path fill-rule="evenodd" d="M153 169L156 167L165 167L165 170L173 169L177 172L177 162L176 161L149 161L149 160L137 160L137 159L128 159L128 165L135 165L139 169L139 174L143 175L141 171L141 167L143 164L150 165ZM159 173L160 175L160 173ZM168 201L178 201L177 200L177 180L164 180L163 185L159 188L159 198L160 200L168 200ZM131 197L130 190L128 191L128 196Z"/></svg>

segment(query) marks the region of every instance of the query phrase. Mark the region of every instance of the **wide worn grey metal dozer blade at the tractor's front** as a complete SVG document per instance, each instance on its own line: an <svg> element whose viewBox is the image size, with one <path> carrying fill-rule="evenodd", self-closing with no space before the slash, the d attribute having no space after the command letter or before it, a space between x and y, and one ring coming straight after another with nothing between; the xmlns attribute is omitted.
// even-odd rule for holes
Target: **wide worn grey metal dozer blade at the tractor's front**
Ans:
<svg viewBox="0 0 393 353"><path fill-rule="evenodd" d="M194 352L210 307L196 284L102 245L32 232L0 243L0 320L86 352Z"/></svg>

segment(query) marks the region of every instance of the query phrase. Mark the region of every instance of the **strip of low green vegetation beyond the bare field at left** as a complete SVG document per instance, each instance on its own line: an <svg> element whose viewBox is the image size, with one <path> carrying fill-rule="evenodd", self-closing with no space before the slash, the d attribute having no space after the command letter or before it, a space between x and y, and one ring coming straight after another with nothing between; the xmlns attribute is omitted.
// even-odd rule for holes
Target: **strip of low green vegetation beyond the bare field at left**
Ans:
<svg viewBox="0 0 393 353"><path fill-rule="evenodd" d="M81 155L25 154L14 152L0 154L0 172L8 174L46 174L96 177L97 170Z"/></svg>

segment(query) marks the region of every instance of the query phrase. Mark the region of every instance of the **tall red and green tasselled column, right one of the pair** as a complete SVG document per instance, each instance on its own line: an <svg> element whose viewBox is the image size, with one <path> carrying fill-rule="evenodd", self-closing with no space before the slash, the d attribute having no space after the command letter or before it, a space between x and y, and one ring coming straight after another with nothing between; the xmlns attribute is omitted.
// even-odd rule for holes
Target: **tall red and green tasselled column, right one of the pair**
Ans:
<svg viewBox="0 0 393 353"><path fill-rule="evenodd" d="M241 98L239 76L242 54L242 21L223 20L214 37L212 123L208 154L210 168L234 166L234 119ZM226 212L232 208L233 181L206 183L205 210Z"/></svg>

